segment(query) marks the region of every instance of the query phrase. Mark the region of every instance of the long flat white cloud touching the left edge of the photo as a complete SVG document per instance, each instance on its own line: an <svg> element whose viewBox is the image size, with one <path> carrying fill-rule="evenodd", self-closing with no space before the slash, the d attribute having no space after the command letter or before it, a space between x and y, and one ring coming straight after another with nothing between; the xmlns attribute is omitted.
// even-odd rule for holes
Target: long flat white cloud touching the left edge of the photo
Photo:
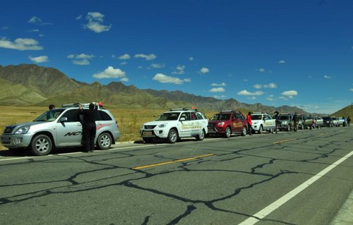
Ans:
<svg viewBox="0 0 353 225"><path fill-rule="evenodd" d="M15 42L6 39L0 39L0 48L16 49L16 50L42 50L43 47L38 45L39 42L31 38L18 38Z"/></svg>

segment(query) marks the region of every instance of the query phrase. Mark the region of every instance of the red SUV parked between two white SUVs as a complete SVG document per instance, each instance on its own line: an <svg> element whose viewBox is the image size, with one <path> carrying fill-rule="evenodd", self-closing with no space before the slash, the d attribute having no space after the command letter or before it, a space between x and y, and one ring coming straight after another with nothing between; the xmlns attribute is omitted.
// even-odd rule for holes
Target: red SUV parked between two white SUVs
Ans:
<svg viewBox="0 0 353 225"><path fill-rule="evenodd" d="M229 138L232 134L246 135L248 122L240 111L220 111L208 121L208 135L222 135Z"/></svg>

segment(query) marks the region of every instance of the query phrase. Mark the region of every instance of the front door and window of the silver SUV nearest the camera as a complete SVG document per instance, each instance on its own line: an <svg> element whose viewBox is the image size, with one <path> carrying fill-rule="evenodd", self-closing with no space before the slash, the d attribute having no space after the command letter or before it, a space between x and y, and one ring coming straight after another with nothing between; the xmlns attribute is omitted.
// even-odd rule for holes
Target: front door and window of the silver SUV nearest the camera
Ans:
<svg viewBox="0 0 353 225"><path fill-rule="evenodd" d="M82 140L82 123L78 109L65 111L56 123L56 145L77 146Z"/></svg>

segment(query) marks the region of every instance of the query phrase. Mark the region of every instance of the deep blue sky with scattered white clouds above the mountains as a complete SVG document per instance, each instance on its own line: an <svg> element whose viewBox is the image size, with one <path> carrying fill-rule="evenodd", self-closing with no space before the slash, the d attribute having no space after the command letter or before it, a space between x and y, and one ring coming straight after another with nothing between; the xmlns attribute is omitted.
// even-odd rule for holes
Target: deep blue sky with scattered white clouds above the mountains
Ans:
<svg viewBox="0 0 353 225"><path fill-rule="evenodd" d="M353 1L3 1L0 64L333 113L353 102Z"/></svg>

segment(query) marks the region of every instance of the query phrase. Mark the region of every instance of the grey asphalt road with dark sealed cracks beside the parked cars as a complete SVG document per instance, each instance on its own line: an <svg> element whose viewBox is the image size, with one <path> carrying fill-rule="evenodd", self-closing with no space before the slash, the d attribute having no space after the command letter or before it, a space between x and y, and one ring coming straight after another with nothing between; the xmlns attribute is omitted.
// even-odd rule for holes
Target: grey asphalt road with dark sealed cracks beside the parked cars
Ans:
<svg viewBox="0 0 353 225"><path fill-rule="evenodd" d="M330 224L353 189L353 129L0 151L0 224Z"/></svg>

